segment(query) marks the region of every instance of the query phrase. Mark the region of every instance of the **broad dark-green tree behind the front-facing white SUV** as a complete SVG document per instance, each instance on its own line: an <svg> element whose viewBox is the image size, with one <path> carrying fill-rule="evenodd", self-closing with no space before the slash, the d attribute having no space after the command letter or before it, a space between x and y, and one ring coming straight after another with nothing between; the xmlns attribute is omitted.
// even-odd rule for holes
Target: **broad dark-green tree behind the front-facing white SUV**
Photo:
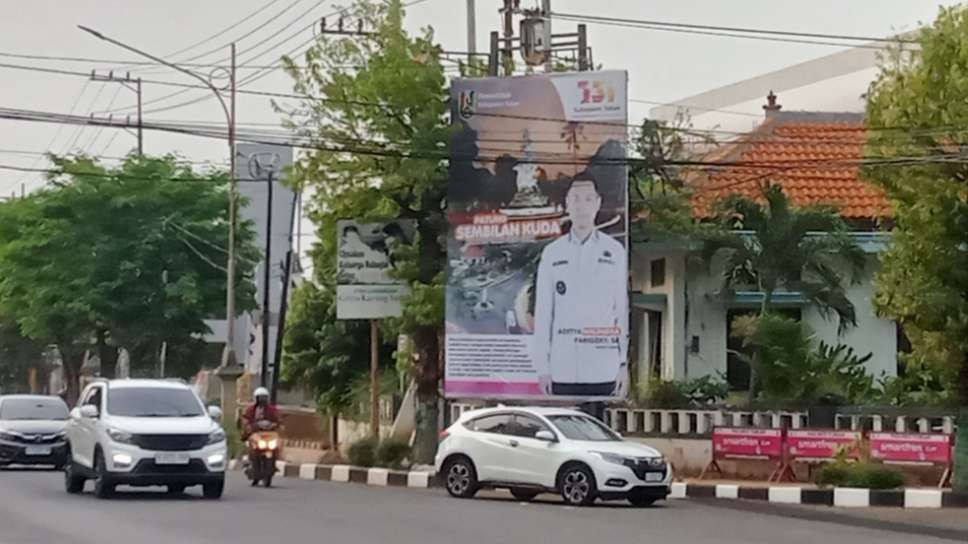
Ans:
<svg viewBox="0 0 968 544"><path fill-rule="evenodd" d="M162 342L192 345L224 311L227 180L173 156L53 161L45 188L0 205L0 311L56 344L73 400L92 343L123 346L133 370L153 374ZM241 280L257 250L240 231ZM254 287L239 285L240 308L252 307Z"/></svg>

